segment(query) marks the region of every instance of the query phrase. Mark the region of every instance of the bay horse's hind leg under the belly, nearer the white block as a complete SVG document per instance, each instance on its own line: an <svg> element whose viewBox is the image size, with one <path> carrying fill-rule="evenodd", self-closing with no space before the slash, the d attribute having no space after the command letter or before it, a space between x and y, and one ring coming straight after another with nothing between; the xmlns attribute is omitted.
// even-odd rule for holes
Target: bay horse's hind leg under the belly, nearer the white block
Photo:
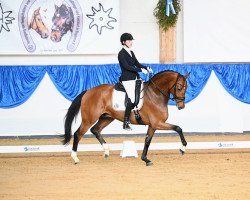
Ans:
<svg viewBox="0 0 250 200"><path fill-rule="evenodd" d="M103 137L101 135L101 131L106 126L108 126L112 121L114 121L114 118L111 118L107 114L103 114L99 118L98 122L90 129L90 131L95 135L97 140L102 145L105 158L107 158L109 156L109 146L107 145L106 141L103 139Z"/></svg>

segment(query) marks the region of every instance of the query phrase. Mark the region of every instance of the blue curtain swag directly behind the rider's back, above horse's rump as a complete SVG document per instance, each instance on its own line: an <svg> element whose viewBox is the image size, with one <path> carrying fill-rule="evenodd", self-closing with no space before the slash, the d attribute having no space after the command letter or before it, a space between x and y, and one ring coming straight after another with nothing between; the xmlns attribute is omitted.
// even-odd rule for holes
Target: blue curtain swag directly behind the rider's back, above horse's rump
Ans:
<svg viewBox="0 0 250 200"><path fill-rule="evenodd" d="M58 91L71 101L82 91L118 82L121 73L117 64L51 66L47 72Z"/></svg>

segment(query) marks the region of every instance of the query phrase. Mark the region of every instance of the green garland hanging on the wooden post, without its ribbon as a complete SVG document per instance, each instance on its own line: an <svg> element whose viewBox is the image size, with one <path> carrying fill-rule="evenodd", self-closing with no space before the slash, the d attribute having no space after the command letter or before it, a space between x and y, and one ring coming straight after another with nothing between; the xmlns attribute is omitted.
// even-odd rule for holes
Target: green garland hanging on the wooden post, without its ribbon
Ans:
<svg viewBox="0 0 250 200"><path fill-rule="evenodd" d="M174 15L170 12L169 17L166 15L166 0L159 0L156 8L154 9L154 16L157 19L157 23L164 31L175 26L178 14L181 11L181 4L179 0L173 0L173 6L176 14Z"/></svg>

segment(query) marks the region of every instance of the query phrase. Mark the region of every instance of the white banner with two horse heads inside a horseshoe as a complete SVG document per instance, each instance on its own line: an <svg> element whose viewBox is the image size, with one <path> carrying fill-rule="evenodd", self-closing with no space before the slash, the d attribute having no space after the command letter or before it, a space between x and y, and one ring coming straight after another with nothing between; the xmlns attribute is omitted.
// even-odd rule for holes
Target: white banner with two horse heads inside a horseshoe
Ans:
<svg viewBox="0 0 250 200"><path fill-rule="evenodd" d="M117 53L119 1L0 1L0 44L8 55Z"/></svg>

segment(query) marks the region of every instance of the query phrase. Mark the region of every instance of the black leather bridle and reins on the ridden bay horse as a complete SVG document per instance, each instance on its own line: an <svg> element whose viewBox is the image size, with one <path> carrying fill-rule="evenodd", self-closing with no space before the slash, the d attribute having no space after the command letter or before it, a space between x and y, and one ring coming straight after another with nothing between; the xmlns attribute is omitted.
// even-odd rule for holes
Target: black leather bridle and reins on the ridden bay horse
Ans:
<svg viewBox="0 0 250 200"><path fill-rule="evenodd" d="M178 73L177 75L177 78L176 78L176 81L174 83L174 85L168 90L167 94L165 94L155 83L154 81L150 78L149 79L149 83L151 82L155 88L165 97L175 101L176 103L179 103L179 102L182 102L182 101L185 101L185 96L184 97L178 97L176 95L176 89L177 89L177 85L181 85L180 83L178 83L178 80L180 79L180 77L182 77L182 75L180 73ZM183 87L183 86L182 86ZM174 94L173 94L173 97L170 97L170 90L172 90L174 88Z"/></svg>

